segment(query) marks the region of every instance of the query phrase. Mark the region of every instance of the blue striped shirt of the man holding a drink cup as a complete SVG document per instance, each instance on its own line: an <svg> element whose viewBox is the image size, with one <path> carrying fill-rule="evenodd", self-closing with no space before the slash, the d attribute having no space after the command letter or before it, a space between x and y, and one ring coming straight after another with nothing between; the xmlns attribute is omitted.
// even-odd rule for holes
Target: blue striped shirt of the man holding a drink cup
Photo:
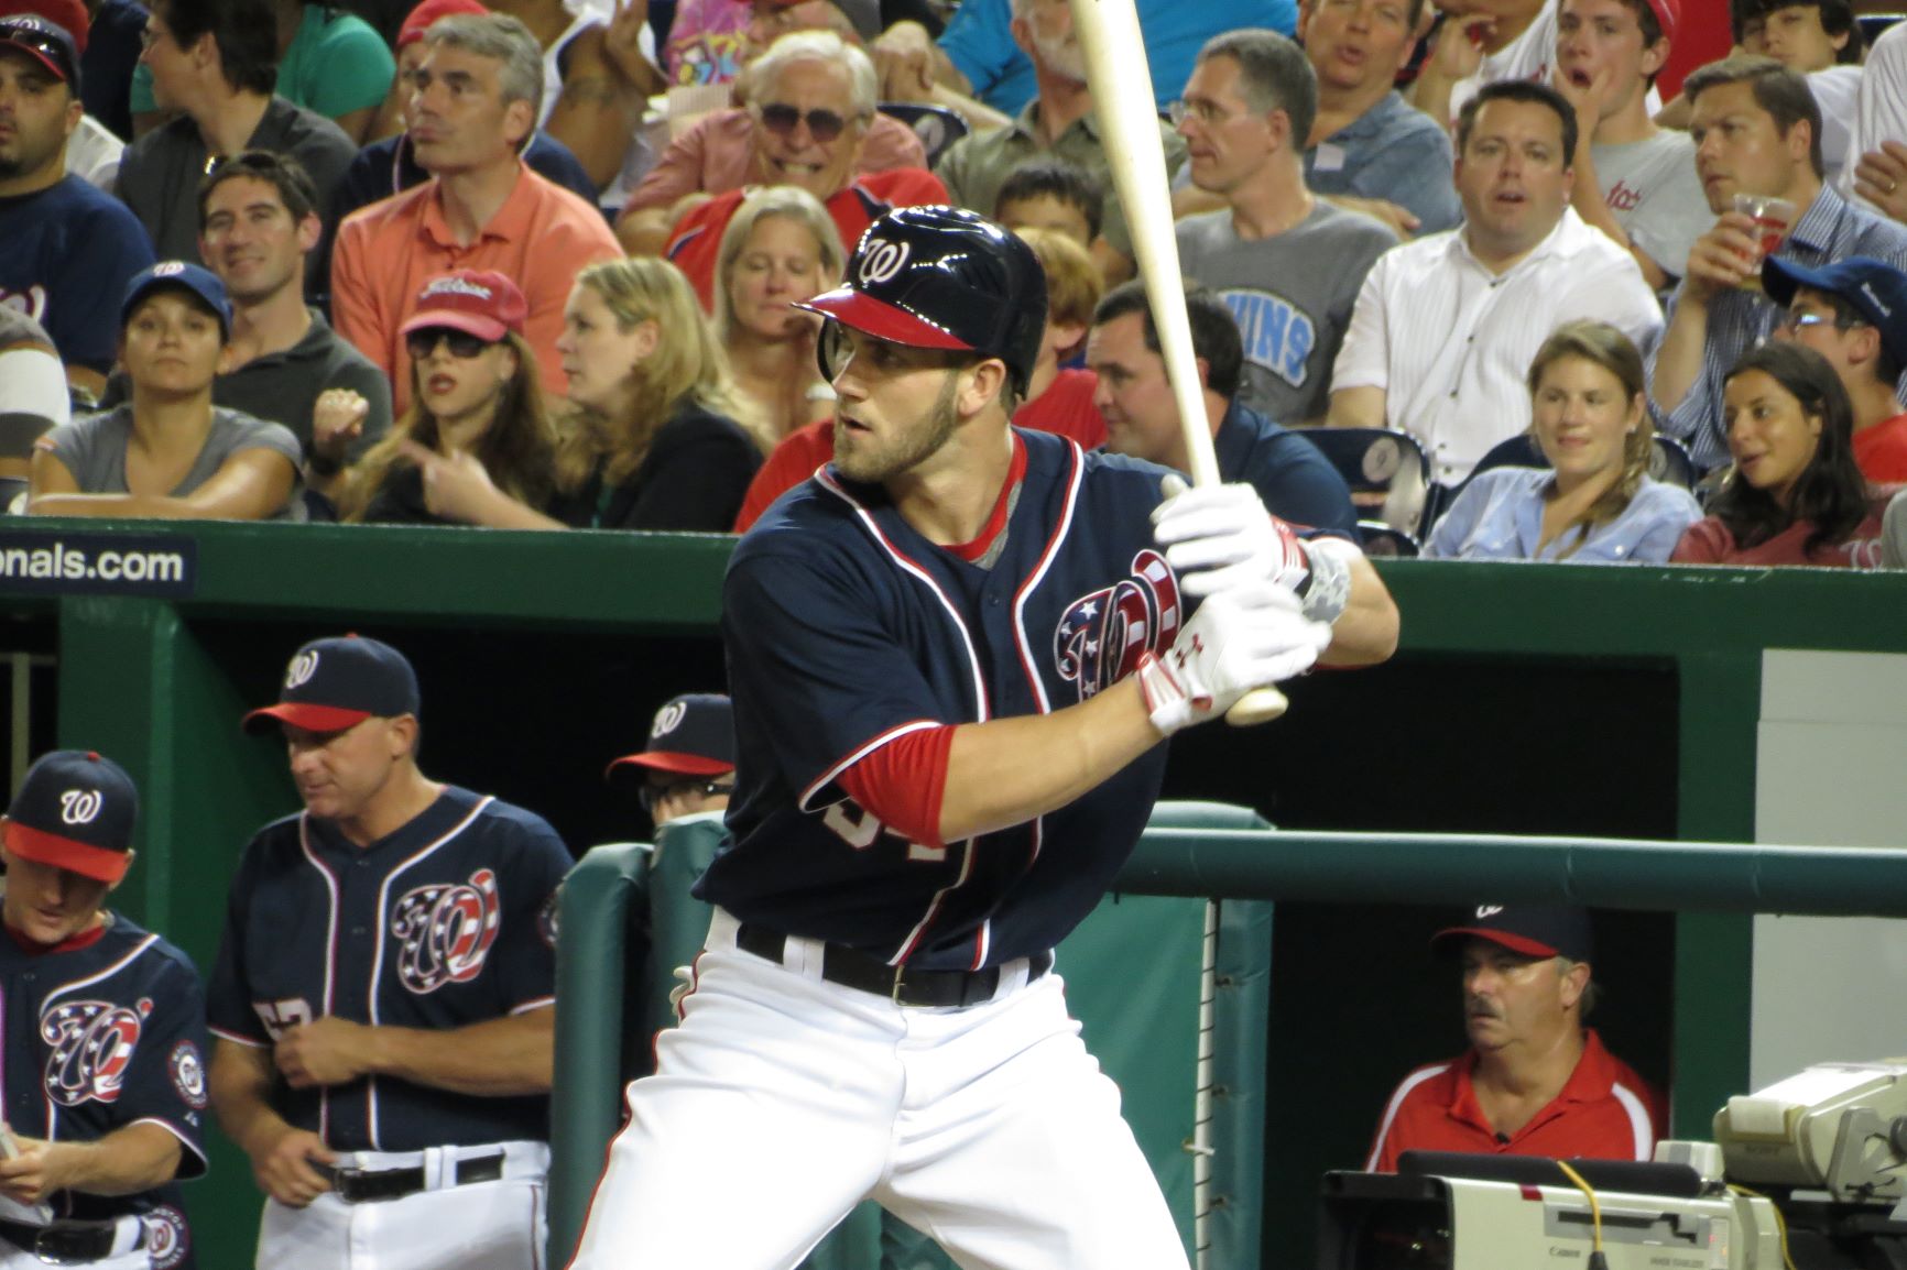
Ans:
<svg viewBox="0 0 1907 1270"><path fill-rule="evenodd" d="M1907 269L1907 227L1863 212L1823 185L1775 256L1806 269L1819 269L1848 256L1873 256L1896 269ZM1669 301L1671 322L1676 305L1682 303L1682 286ZM1688 446L1695 467L1707 471L1728 461L1722 379L1735 360L1768 339L1779 322L1781 307L1760 292L1730 290L1709 301L1709 341L1701 351L1701 376L1676 402L1676 408L1661 420L1661 429ZM1653 383L1655 357L1651 353L1651 389ZM1901 383L1907 385L1907 378Z"/></svg>

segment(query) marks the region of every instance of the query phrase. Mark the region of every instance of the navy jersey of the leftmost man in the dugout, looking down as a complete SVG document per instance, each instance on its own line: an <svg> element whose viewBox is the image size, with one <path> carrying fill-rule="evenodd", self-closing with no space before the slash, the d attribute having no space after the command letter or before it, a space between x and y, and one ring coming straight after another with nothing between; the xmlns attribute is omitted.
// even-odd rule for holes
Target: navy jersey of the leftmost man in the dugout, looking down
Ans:
<svg viewBox="0 0 1907 1270"><path fill-rule="evenodd" d="M206 1171L204 988L177 948L109 915L78 946L31 953L0 934L0 1055L6 1119L13 1133L53 1142L97 1142L133 1123L179 1138L179 1177ZM189 1266L191 1239L177 1184L135 1196L61 1192L59 1217L147 1219L153 1264Z"/></svg>

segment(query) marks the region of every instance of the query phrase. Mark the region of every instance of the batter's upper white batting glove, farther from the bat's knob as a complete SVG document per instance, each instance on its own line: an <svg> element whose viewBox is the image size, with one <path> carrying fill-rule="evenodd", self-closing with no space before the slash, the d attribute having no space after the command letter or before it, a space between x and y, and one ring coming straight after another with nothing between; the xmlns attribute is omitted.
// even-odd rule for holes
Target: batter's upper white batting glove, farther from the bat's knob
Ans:
<svg viewBox="0 0 1907 1270"><path fill-rule="evenodd" d="M1215 595L1251 582L1302 593L1310 557L1297 532L1264 509L1243 482L1188 488L1179 475L1159 482L1152 540L1179 572L1186 595Z"/></svg>

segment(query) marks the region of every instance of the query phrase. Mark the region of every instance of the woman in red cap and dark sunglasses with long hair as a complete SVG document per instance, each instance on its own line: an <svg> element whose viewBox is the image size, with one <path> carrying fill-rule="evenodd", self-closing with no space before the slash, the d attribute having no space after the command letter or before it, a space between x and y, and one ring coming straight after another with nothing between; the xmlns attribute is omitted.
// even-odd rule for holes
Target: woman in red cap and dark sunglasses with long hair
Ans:
<svg viewBox="0 0 1907 1270"><path fill-rule="evenodd" d="M500 273L423 284L402 328L410 408L351 469L341 521L555 526L542 509L555 494L557 433L523 338L526 313Z"/></svg>

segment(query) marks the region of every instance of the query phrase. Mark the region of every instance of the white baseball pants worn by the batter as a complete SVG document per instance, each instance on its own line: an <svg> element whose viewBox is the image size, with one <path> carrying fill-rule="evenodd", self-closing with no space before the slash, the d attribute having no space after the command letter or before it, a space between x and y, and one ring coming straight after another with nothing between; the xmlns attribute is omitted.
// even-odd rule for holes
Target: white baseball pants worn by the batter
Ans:
<svg viewBox="0 0 1907 1270"><path fill-rule="evenodd" d="M740 952L715 913L572 1270L788 1270L868 1198L963 1270L1184 1270L1058 974L910 1009L822 982L816 953Z"/></svg>

